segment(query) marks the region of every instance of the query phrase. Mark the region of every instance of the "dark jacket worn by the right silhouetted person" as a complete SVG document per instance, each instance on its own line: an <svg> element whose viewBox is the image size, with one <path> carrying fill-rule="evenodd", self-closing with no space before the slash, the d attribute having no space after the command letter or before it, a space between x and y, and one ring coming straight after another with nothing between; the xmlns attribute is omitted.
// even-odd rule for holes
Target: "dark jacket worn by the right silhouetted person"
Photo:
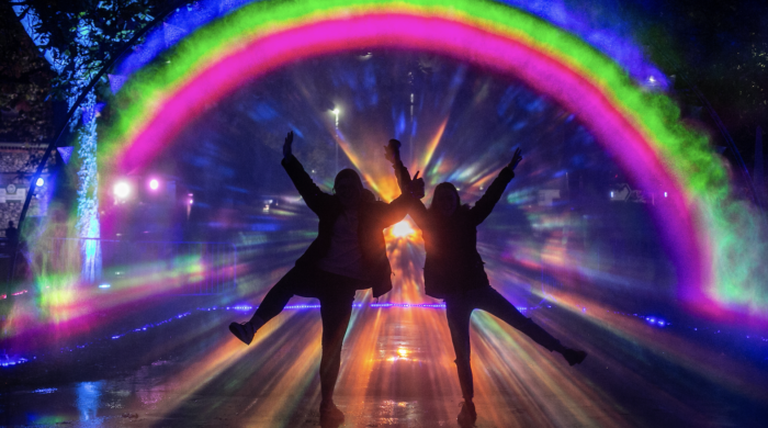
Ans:
<svg viewBox="0 0 768 428"><path fill-rule="evenodd" d="M456 292L490 286L477 252L477 225L490 215L512 178L515 171L511 168L501 169L475 206L459 206L450 216L427 210L421 201L414 201L409 214L423 234L427 295L445 299Z"/></svg>

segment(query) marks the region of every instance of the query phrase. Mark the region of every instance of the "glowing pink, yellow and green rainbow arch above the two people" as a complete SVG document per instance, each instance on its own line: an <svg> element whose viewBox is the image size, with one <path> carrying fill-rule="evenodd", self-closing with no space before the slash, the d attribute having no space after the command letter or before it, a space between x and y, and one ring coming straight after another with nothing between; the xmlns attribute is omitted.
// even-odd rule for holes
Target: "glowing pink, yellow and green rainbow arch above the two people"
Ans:
<svg viewBox="0 0 768 428"><path fill-rule="evenodd" d="M723 235L718 210L729 199L729 183L707 138L679 123L669 99L636 86L578 37L487 0L275 0L242 7L132 77L118 93L120 114L100 158L116 159L106 167L113 172L140 167L244 83L296 59L371 48L426 50L513 75L575 113L635 183L668 192L669 203L656 213L679 295L699 309L716 311L712 303L723 301L723 274L714 240ZM734 295L729 303L745 304ZM748 311L759 312L765 303Z"/></svg>

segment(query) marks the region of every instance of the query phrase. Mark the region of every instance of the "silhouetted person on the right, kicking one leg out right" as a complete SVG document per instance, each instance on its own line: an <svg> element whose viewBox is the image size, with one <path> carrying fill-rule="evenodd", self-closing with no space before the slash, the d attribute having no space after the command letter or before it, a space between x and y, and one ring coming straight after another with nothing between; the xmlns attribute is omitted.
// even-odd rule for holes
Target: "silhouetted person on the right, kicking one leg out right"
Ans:
<svg viewBox="0 0 768 428"><path fill-rule="evenodd" d="M425 292L445 301L445 316L456 353L459 383L464 404L459 423L472 425L477 419L472 402L474 386L470 365L470 317L472 311L483 309L524 333L533 341L563 354L568 364L578 364L587 357L584 351L561 345L531 318L523 316L511 303L490 286L477 252L477 225L490 214L507 184L515 178L515 167L522 160L520 149L501 169L475 206L462 205L456 188L440 183L434 189L429 210L420 201L411 205L410 216L423 233L427 258L423 267ZM407 170L404 172L407 174ZM414 184L421 184L414 180ZM414 191L416 193L416 191ZM423 194L423 191L421 191Z"/></svg>

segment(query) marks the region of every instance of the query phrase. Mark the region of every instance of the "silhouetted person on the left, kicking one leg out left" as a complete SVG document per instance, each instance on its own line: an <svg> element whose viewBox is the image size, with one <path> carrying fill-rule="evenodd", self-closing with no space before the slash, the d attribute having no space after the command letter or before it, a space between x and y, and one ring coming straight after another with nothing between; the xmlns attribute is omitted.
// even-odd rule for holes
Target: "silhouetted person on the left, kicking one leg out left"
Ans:
<svg viewBox="0 0 768 428"><path fill-rule="evenodd" d="M293 132L285 137L282 165L307 206L319 218L317 238L296 264L264 296L253 317L231 323L229 330L249 345L256 331L282 312L294 295L320 301L323 357L320 360L320 423L343 420L334 405L341 363L341 345L357 290L373 289L379 297L392 290L392 268L383 229L402 221L413 203L409 194L392 203L375 201L354 170L341 170L328 194L312 181L293 156Z"/></svg>

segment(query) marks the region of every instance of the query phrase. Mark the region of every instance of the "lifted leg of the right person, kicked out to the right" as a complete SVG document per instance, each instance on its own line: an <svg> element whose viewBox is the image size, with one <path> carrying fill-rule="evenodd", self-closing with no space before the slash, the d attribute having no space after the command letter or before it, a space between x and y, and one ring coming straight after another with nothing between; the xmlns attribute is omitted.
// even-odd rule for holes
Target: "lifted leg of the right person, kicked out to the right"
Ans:
<svg viewBox="0 0 768 428"><path fill-rule="evenodd" d="M471 301L478 309L500 318L510 326L526 334L537 343L543 346L549 351L556 351L563 354L571 365L578 364L586 358L586 352L576 351L564 347L560 340L550 335L546 330L535 324L533 319L527 318L515 305L509 303L498 291L490 286L475 289L468 292Z"/></svg>

